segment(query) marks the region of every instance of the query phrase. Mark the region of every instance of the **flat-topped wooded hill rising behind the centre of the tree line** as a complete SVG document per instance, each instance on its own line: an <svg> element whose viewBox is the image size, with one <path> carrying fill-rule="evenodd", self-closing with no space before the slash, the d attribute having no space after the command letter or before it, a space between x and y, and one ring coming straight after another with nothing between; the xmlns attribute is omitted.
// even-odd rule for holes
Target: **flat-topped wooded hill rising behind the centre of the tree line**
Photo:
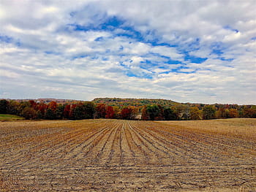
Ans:
<svg viewBox="0 0 256 192"><path fill-rule="evenodd" d="M96 98L92 100L95 104L108 104L110 106L125 107L135 106L142 107L147 104L159 104L163 107L170 107L181 104L176 101L166 99L121 99L121 98Z"/></svg>

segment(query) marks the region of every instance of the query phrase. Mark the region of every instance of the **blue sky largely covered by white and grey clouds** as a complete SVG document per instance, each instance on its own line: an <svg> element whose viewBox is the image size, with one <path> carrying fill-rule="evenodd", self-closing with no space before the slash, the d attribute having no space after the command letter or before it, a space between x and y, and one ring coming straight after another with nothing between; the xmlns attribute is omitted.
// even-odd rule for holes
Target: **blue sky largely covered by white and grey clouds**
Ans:
<svg viewBox="0 0 256 192"><path fill-rule="evenodd" d="M255 10L255 0L0 0L0 98L256 104Z"/></svg>

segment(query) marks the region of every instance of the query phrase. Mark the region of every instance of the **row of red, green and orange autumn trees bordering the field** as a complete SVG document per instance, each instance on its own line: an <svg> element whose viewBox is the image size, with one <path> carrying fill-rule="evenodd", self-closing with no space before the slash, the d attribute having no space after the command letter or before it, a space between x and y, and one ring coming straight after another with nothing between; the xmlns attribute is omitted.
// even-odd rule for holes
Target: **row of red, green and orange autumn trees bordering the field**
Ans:
<svg viewBox="0 0 256 192"><path fill-rule="evenodd" d="M82 120L109 118L125 120L201 120L215 118L256 118L255 105L236 104L146 104L144 106L111 106L92 101L58 104L31 101L0 100L0 114L19 115L26 119Z"/></svg>

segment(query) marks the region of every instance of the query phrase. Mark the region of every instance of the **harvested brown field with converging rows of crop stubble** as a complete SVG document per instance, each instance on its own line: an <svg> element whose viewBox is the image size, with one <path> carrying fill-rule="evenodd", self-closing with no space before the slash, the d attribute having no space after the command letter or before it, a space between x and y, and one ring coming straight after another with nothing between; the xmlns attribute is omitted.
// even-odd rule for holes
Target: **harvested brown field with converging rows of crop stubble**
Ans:
<svg viewBox="0 0 256 192"><path fill-rule="evenodd" d="M256 119L0 122L0 191L256 191Z"/></svg>

